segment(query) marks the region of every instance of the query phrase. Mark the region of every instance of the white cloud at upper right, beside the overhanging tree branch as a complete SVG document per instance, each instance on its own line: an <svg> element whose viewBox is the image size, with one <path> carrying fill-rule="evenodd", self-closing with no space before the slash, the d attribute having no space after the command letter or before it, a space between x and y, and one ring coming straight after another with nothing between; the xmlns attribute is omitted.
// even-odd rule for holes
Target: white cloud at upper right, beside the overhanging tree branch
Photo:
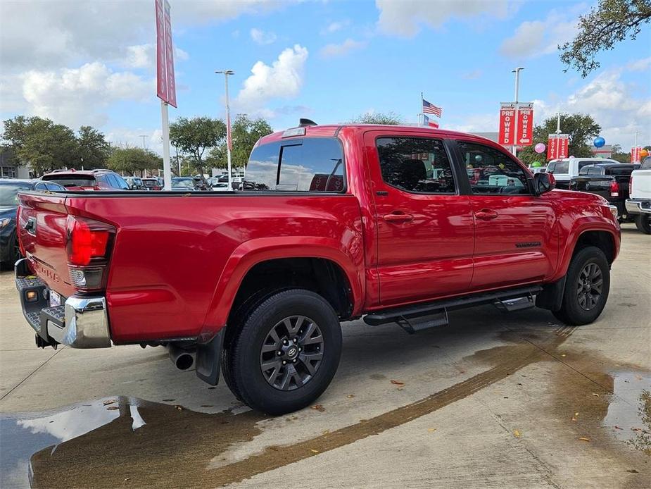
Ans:
<svg viewBox="0 0 651 489"><path fill-rule="evenodd" d="M500 53L510 58L533 58L557 51L559 44L576 34L577 25L572 12L551 11L545 20L526 20L512 37L504 40Z"/></svg>

